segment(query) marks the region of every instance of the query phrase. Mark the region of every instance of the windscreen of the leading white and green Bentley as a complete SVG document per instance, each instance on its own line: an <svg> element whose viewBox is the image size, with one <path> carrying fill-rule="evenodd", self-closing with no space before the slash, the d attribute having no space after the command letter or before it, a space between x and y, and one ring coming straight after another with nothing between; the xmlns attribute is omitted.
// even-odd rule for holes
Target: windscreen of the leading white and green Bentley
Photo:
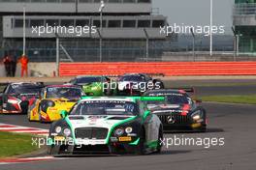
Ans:
<svg viewBox="0 0 256 170"><path fill-rule="evenodd" d="M134 102L122 100L88 100L77 103L70 115L138 115Z"/></svg>

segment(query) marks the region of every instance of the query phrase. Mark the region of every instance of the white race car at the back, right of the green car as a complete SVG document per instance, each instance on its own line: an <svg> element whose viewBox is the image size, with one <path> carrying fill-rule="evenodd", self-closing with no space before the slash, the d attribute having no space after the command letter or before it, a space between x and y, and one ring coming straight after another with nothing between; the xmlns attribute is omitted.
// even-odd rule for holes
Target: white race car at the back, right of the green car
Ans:
<svg viewBox="0 0 256 170"><path fill-rule="evenodd" d="M118 94L141 96L147 90L163 89L164 83L160 79L153 79L144 73L127 73L118 78Z"/></svg>

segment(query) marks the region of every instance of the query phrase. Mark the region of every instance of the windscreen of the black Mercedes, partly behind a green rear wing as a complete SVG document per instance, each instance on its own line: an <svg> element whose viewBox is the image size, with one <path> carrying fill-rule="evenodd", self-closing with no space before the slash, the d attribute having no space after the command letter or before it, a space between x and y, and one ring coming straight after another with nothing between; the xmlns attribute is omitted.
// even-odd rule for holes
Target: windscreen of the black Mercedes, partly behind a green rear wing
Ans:
<svg viewBox="0 0 256 170"><path fill-rule="evenodd" d="M155 93L148 94L148 96L153 97L165 97L166 101L147 101L147 104L159 104L159 103L167 103L167 104L190 104L192 99L188 98L187 95L180 93Z"/></svg>

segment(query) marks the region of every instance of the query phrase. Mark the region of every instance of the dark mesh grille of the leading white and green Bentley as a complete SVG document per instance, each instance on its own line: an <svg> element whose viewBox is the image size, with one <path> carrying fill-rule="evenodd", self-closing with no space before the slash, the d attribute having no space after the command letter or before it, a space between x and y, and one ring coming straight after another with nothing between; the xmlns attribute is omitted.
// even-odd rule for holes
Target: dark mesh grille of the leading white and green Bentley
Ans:
<svg viewBox="0 0 256 170"><path fill-rule="evenodd" d="M76 128L76 138L86 139L106 139L108 135L108 128Z"/></svg>

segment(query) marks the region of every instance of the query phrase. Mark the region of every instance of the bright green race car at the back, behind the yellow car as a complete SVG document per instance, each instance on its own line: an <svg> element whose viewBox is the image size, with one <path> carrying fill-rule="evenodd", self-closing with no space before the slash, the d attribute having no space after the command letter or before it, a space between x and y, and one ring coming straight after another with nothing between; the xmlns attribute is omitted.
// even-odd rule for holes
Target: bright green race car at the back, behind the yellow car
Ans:
<svg viewBox="0 0 256 170"><path fill-rule="evenodd" d="M108 76L80 75L71 79L68 84L80 86L87 96L104 97L115 94L116 88L111 89L112 82Z"/></svg>

